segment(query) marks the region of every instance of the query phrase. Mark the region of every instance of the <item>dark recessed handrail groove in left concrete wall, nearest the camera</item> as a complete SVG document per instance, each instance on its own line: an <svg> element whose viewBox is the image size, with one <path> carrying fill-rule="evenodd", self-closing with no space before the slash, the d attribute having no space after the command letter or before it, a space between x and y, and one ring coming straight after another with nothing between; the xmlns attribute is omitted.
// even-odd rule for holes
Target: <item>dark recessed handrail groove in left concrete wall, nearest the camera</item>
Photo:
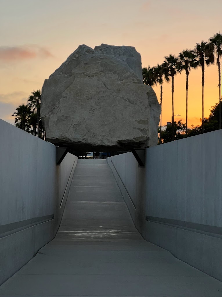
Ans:
<svg viewBox="0 0 222 297"><path fill-rule="evenodd" d="M27 219L27 220L23 220L23 221L19 221L19 222L14 222L14 223L10 223L10 224L6 224L6 225L0 225L0 237L4 237L6 236L5 233L15 233L18 232L25 228L28 228L33 225L38 225L41 224L43 222L49 221L54 219L54 214L50 214L48 216L43 216L43 217L35 217L35 218L31 218L31 219ZM19 229L19 230L18 230ZM9 234L7 234L9 235Z"/></svg>

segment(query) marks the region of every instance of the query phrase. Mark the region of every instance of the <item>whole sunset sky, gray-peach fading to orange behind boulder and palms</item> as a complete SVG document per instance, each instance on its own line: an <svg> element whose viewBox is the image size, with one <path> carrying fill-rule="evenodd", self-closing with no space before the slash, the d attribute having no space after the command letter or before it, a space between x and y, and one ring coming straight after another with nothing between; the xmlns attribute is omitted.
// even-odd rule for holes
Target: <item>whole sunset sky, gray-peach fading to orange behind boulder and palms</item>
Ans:
<svg viewBox="0 0 222 297"><path fill-rule="evenodd" d="M134 46L143 67L194 48L222 31L221 0L0 0L0 118L41 89L80 44ZM160 88L155 88L159 99ZM175 78L175 120L185 121L185 74ZM205 116L218 102L218 72L205 71ZM199 125L201 71L189 76L188 126ZM163 86L163 124L171 121L171 86Z"/></svg>

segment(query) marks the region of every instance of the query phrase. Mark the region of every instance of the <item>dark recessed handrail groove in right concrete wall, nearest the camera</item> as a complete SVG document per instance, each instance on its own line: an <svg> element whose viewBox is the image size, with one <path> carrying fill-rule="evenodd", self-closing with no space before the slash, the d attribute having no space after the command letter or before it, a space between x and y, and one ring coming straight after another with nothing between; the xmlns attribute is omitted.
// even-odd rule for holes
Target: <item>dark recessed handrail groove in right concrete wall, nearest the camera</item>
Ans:
<svg viewBox="0 0 222 297"><path fill-rule="evenodd" d="M175 219L166 219L166 218L151 217L151 216L146 216L146 220L165 224L165 225L171 225L176 228L189 229L194 232L202 231L205 233L212 233L212 234L217 234L219 236L222 236L222 228L217 226L210 226L210 225L198 224L193 222L186 222L186 221L180 221Z"/></svg>

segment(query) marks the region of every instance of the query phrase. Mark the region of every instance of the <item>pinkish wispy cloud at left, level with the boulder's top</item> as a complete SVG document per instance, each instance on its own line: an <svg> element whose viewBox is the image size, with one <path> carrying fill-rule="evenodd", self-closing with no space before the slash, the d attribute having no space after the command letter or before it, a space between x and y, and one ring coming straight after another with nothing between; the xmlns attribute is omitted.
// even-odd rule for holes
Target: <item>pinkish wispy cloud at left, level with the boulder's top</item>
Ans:
<svg viewBox="0 0 222 297"><path fill-rule="evenodd" d="M49 50L38 45L0 46L0 60L3 62L50 57L53 55Z"/></svg>

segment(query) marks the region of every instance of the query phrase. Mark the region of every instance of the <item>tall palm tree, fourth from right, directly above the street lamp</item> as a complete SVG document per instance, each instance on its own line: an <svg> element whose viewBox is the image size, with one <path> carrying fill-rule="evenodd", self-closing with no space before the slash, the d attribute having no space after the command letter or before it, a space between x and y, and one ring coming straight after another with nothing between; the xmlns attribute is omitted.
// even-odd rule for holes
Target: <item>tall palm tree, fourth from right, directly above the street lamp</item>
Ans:
<svg viewBox="0 0 222 297"><path fill-rule="evenodd" d="M171 76L171 90L172 90L172 141L174 140L174 107L173 107L173 93L174 93L174 76L177 72L180 72L180 64L178 58L170 54L168 57L164 57L165 61L163 66L168 72L168 76Z"/></svg>

